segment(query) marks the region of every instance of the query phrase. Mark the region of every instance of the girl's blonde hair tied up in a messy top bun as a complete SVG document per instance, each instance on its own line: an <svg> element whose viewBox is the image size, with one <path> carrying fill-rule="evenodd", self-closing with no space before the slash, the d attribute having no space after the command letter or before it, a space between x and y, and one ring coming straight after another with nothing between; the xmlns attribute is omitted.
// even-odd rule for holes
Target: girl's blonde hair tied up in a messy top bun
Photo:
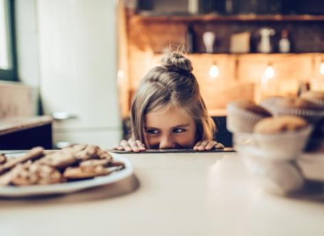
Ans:
<svg viewBox="0 0 324 236"><path fill-rule="evenodd" d="M152 68L139 83L132 99L132 138L144 141L143 117L178 107L196 123L196 141L212 140L216 125L208 116L205 102L199 91L196 77L192 74L192 62L181 53L167 53L161 66Z"/></svg>

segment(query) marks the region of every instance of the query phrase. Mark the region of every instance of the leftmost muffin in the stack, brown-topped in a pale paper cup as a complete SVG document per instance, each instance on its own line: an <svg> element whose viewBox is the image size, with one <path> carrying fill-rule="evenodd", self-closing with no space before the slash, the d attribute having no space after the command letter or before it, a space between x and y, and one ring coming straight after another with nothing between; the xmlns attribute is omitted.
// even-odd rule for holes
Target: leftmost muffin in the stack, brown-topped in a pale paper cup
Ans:
<svg viewBox="0 0 324 236"><path fill-rule="evenodd" d="M253 101L233 101L227 105L227 129L233 133L251 133L259 120L270 116L270 112Z"/></svg>

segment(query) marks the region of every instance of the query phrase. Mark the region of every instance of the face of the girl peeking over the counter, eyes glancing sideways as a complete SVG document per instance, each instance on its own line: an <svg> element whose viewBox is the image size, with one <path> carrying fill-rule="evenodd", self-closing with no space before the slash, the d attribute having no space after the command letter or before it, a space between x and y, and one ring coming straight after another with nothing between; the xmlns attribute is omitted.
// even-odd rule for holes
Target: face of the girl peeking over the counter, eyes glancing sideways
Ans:
<svg viewBox="0 0 324 236"><path fill-rule="evenodd" d="M166 112L144 116L144 142L152 149L188 149L196 144L194 120L171 107Z"/></svg>

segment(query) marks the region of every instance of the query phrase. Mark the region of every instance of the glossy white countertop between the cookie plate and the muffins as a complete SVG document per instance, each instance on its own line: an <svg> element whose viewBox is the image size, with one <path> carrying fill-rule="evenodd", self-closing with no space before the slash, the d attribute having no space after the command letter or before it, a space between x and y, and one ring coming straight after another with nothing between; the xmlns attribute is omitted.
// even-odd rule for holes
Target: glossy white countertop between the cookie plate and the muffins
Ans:
<svg viewBox="0 0 324 236"><path fill-rule="evenodd" d="M125 156L121 183L0 199L0 235L324 235L323 200L262 192L237 153Z"/></svg>

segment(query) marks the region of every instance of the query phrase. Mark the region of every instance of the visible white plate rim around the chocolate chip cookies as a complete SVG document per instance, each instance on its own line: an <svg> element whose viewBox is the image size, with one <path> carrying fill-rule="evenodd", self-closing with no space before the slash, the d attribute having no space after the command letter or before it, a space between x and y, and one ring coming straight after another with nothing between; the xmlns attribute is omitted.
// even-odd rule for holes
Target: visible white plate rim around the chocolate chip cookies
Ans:
<svg viewBox="0 0 324 236"><path fill-rule="evenodd" d="M51 185L31 185L31 186L4 186L0 187L0 196L45 196L51 194L69 194L89 187L97 187L108 183L115 183L130 176L133 172L132 163L120 154L110 153L115 161L125 163L125 168L105 176L97 176L93 179L82 181L73 181L67 183L56 183ZM23 153L19 153L23 155ZM8 154L7 157L18 156L17 154Z"/></svg>

